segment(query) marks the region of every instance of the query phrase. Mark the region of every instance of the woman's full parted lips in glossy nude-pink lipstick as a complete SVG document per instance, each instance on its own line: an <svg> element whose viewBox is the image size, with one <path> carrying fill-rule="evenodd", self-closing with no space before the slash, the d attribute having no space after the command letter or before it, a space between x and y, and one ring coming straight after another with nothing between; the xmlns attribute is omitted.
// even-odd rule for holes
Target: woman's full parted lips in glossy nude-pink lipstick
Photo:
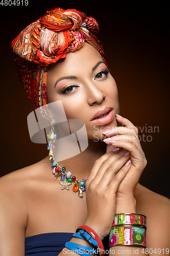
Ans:
<svg viewBox="0 0 170 256"><path fill-rule="evenodd" d="M107 116L105 116L103 118L99 118L99 119L94 119L94 118L104 115L106 113L108 113ZM113 108L107 106L105 109L99 110L98 112L96 112L90 121L95 124L105 125L107 123L110 123L112 120L113 120Z"/></svg>

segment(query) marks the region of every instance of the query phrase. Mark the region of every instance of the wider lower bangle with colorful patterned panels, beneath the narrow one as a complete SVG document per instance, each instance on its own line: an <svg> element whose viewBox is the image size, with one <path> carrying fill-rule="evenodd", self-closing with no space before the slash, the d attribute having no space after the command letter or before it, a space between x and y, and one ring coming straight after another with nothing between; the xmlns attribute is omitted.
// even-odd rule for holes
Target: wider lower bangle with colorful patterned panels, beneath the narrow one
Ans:
<svg viewBox="0 0 170 256"><path fill-rule="evenodd" d="M109 247L133 245L146 248L146 229L144 226L113 226L109 234Z"/></svg>

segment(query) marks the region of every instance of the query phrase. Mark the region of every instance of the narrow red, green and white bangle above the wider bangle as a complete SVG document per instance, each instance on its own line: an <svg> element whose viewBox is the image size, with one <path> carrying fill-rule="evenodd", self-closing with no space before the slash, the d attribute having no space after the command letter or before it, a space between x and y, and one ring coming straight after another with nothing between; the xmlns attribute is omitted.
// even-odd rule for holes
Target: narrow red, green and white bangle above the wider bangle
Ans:
<svg viewBox="0 0 170 256"><path fill-rule="evenodd" d="M139 214L116 214L113 226L120 224L133 224L146 226L147 217Z"/></svg>

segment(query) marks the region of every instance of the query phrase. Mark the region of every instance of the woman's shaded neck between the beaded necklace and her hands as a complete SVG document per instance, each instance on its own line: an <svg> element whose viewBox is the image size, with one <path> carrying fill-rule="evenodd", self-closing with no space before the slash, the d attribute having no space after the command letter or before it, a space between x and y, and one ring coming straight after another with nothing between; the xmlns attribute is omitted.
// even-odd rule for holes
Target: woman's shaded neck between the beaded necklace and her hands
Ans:
<svg viewBox="0 0 170 256"><path fill-rule="evenodd" d="M79 180L88 178L95 160L106 153L106 144L102 141L88 141L88 147L82 153L69 159L59 161L59 166L66 167Z"/></svg>

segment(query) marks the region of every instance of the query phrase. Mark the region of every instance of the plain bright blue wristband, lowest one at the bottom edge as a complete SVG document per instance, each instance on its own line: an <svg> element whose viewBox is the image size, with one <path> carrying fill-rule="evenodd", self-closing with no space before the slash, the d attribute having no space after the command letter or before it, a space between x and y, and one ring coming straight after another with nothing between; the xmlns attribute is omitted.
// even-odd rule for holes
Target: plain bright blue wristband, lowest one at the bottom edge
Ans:
<svg viewBox="0 0 170 256"><path fill-rule="evenodd" d="M90 247L87 247L84 245L80 245L80 244L76 244L76 243L72 243L72 242L65 243L65 247L80 254L80 255L83 255L83 256L86 256L88 253L96 254L96 250L94 250L93 248L90 248ZM81 250L79 250L79 249L81 249ZM88 253L86 253L84 251L86 251Z"/></svg>

